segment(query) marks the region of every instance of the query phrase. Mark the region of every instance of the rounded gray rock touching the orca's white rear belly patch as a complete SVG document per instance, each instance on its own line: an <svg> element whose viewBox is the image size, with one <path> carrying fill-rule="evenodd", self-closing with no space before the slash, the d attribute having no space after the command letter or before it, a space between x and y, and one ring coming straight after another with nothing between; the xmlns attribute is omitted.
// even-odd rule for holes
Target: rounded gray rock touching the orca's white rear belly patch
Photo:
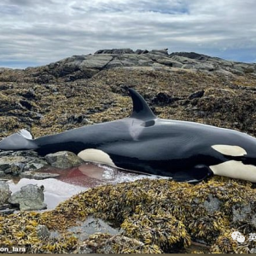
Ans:
<svg viewBox="0 0 256 256"><path fill-rule="evenodd" d="M76 154L69 151L60 151L54 154L47 154L45 159L49 165L62 169L79 166L84 162Z"/></svg>

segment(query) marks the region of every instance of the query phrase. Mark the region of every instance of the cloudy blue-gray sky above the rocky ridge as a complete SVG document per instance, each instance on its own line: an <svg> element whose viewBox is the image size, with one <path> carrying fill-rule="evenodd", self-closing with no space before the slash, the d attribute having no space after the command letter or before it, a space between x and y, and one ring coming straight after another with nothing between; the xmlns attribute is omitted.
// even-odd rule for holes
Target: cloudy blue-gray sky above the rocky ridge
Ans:
<svg viewBox="0 0 256 256"><path fill-rule="evenodd" d="M255 10L255 0L1 0L0 67L113 48L256 62Z"/></svg>

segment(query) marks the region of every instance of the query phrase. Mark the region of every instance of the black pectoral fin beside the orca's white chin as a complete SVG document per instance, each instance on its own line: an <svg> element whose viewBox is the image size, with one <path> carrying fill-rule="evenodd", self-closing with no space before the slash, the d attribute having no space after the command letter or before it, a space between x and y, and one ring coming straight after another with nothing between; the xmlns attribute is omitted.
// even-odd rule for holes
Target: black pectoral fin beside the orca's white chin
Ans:
<svg viewBox="0 0 256 256"><path fill-rule="evenodd" d="M176 172L172 179L177 182L199 183L212 175L213 172L208 166L195 166L186 171Z"/></svg>

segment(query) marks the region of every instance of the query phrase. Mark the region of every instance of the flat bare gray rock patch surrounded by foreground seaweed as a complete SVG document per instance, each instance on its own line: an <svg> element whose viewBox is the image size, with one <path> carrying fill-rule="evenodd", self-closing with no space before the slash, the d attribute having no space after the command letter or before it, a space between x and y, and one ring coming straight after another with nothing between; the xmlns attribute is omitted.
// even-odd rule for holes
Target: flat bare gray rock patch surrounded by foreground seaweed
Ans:
<svg viewBox="0 0 256 256"><path fill-rule="evenodd" d="M84 222L78 222L76 226L68 228L74 236L78 237L80 241L84 241L90 235L95 233L108 233L109 235L119 235L122 230L113 229L109 224L100 218L89 217Z"/></svg>

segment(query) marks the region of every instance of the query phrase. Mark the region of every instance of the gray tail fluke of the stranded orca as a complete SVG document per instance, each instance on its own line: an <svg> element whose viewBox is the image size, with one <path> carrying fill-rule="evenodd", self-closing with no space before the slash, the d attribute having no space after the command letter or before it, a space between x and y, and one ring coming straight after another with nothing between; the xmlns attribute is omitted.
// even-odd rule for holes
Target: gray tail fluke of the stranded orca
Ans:
<svg viewBox="0 0 256 256"><path fill-rule="evenodd" d="M25 129L4 138L0 142L1 150L26 150L36 148L38 148L38 146L34 143L32 134Z"/></svg>

